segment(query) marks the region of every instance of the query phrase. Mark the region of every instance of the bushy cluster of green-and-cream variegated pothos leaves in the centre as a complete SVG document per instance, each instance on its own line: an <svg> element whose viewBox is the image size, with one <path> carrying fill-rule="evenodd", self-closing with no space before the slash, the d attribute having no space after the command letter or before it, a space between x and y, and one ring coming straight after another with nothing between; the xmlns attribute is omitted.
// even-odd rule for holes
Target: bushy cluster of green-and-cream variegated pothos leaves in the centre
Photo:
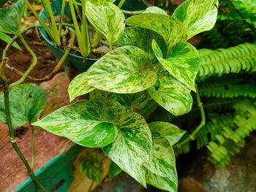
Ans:
<svg viewBox="0 0 256 192"><path fill-rule="evenodd" d="M215 0L185 1L172 16L148 9L128 18L131 27L114 43L123 47L69 85L71 101L85 93L90 99L61 107L33 125L78 145L102 147L112 161L110 175L124 170L145 187L177 191L172 145L184 131L170 123L148 124L135 109L154 99L173 115L191 110L200 58L187 39L211 29L216 18Z"/></svg>

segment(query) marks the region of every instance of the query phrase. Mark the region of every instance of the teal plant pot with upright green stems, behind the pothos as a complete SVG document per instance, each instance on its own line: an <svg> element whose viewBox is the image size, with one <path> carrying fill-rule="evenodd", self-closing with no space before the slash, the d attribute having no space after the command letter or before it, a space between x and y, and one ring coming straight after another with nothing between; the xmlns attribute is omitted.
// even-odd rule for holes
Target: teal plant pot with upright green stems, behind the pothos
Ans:
<svg viewBox="0 0 256 192"><path fill-rule="evenodd" d="M115 1L115 4L118 4L119 1L120 0ZM61 15L61 4L62 4L61 0L55 0L51 3L51 7L53 9L54 15ZM124 2L124 5L121 8L127 11L136 11L136 10L146 9L147 5L143 4L138 0L127 0ZM72 20L69 7L65 7L64 14L67 16L67 23L69 23ZM39 16L42 18L42 20L46 19L44 9L42 9L42 11L39 13ZM54 45L53 41L50 39L50 37L46 33L45 28L39 28L39 32L42 35L42 37L45 39L45 42L47 43L50 52L53 53L53 55L57 59L60 60L62 55L64 55L64 50L61 50L59 47L56 47ZM90 66L92 66L96 61L97 59L95 58L84 58L82 56L69 53L63 66L66 72L69 71L67 64L70 64L73 69L78 71L78 73L81 73L81 72L86 72L90 68Z"/></svg>

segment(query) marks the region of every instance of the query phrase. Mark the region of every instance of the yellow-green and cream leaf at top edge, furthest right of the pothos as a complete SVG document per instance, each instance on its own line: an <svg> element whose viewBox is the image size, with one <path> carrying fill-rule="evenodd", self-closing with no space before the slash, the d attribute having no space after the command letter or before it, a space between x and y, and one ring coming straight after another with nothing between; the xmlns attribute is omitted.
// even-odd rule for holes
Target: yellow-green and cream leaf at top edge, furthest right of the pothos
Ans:
<svg viewBox="0 0 256 192"><path fill-rule="evenodd" d="M181 4L173 17L181 20L188 31L188 38L214 26L217 17L216 0L188 0Z"/></svg>

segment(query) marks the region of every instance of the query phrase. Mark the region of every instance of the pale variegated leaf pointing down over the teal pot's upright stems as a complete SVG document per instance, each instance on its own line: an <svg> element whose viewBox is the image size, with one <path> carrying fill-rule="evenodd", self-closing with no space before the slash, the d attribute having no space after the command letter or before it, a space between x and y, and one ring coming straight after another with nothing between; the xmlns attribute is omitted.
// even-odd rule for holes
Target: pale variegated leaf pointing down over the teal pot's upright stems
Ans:
<svg viewBox="0 0 256 192"><path fill-rule="evenodd" d="M124 31L124 14L112 3L105 3L100 6L86 3L86 16L90 23L97 28L108 42L113 43Z"/></svg>

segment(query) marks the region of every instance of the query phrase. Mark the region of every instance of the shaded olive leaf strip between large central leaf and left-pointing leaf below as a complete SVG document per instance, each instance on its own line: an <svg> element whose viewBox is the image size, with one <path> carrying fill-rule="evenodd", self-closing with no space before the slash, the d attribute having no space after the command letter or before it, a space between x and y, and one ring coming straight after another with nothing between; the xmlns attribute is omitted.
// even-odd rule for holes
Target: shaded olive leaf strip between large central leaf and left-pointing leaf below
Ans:
<svg viewBox="0 0 256 192"><path fill-rule="evenodd" d="M95 89L90 93L90 99L96 99L107 104L116 115L121 115L125 112L129 112L130 107L120 104L115 93L110 93L108 91L102 91Z"/></svg>

